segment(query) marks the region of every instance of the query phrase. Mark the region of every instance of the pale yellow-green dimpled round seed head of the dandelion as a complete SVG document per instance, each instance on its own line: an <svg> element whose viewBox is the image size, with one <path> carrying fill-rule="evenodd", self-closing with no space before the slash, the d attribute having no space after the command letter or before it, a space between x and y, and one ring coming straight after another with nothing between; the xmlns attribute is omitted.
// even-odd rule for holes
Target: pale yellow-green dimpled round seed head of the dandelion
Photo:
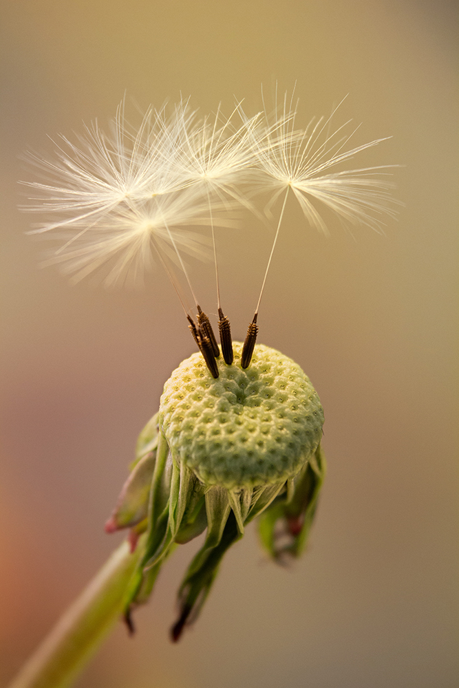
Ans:
<svg viewBox="0 0 459 688"><path fill-rule="evenodd" d="M206 485L228 489L287 480L317 449L323 411L299 365L258 344L247 369L217 358L214 379L200 353L182 361L160 402L160 428L175 459Z"/></svg>

